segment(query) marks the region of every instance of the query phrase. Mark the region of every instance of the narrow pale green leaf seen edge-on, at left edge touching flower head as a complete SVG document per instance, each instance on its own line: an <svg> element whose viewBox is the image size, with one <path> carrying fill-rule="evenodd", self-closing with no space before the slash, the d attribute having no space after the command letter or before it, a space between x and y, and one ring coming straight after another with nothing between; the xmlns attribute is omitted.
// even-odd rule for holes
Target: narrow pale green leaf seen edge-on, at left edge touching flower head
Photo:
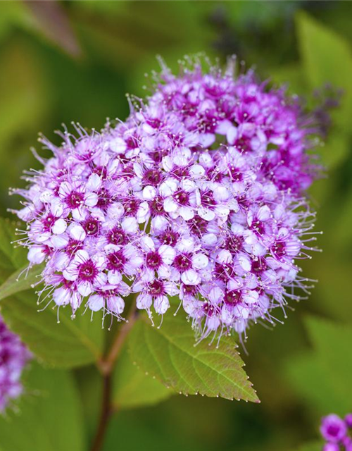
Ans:
<svg viewBox="0 0 352 451"><path fill-rule="evenodd" d="M27 271L28 264L11 274L0 286L0 300L18 292L29 290L38 282L38 276L44 269L44 264L34 265Z"/></svg>

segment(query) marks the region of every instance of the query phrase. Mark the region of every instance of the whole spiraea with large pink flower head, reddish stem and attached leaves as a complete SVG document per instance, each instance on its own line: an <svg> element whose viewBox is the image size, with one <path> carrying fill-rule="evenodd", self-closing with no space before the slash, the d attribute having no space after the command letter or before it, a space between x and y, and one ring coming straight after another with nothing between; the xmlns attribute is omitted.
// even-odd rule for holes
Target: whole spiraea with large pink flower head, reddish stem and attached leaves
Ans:
<svg viewBox="0 0 352 451"><path fill-rule="evenodd" d="M11 190L23 198L14 213L29 264L1 297L32 285L40 312L26 327L23 300L4 313L44 362L100 369L94 450L125 346L170 393L258 401L234 336L244 342L251 324L281 321L310 288L298 262L316 250L306 190L320 172L311 152L319 124L298 97L235 68L234 58L225 70L187 58L173 75L161 63L149 96L129 97L125 121L101 132L74 124L60 146L40 137L52 156L34 152L42 169ZM63 352L49 355L33 324L53 311L56 333L65 328L68 340L78 330L81 340L51 337ZM96 336L118 322L103 352Z"/></svg>

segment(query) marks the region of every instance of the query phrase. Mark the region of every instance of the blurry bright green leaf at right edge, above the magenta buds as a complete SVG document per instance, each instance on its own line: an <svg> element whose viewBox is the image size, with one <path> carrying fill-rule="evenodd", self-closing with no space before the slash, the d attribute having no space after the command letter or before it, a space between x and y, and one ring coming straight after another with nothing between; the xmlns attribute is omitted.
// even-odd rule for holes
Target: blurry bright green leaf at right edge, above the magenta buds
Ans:
<svg viewBox="0 0 352 451"><path fill-rule="evenodd" d="M310 409L320 414L346 414L351 409L352 327L308 317L308 335L313 343L309 355L290 359L289 379Z"/></svg>

